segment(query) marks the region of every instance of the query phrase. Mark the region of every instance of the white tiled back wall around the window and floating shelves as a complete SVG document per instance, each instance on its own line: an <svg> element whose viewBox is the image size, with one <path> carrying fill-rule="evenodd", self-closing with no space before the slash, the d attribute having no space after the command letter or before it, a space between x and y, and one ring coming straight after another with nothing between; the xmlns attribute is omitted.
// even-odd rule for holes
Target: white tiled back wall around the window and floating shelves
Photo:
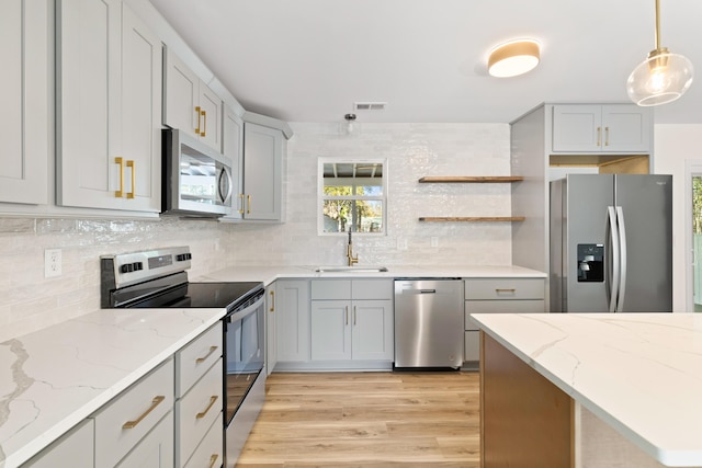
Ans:
<svg viewBox="0 0 702 468"><path fill-rule="evenodd" d="M317 163L387 159L387 236L354 237L363 265L510 263L509 222L419 222L420 216L509 216L509 184L420 184L423 175L509 175L507 124L291 124L286 221L236 231L238 264L341 265L347 237L317 235ZM431 238L439 247L431 247ZM398 249L398 239L407 249Z"/></svg>

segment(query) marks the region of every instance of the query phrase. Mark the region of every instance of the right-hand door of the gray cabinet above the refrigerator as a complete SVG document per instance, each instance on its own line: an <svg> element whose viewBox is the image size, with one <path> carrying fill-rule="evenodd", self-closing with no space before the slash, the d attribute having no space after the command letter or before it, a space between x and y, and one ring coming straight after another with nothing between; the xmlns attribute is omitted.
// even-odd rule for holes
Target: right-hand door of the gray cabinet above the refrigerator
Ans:
<svg viewBox="0 0 702 468"><path fill-rule="evenodd" d="M652 114L637 105L603 105L603 151L650 151Z"/></svg>

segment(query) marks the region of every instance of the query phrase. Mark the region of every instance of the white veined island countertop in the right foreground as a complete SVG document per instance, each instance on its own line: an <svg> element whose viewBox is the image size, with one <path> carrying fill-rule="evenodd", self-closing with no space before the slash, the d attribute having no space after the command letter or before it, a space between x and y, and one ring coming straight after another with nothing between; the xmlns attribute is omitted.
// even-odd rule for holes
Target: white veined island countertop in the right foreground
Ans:
<svg viewBox="0 0 702 468"><path fill-rule="evenodd" d="M656 460L702 466L702 315L472 319Z"/></svg>

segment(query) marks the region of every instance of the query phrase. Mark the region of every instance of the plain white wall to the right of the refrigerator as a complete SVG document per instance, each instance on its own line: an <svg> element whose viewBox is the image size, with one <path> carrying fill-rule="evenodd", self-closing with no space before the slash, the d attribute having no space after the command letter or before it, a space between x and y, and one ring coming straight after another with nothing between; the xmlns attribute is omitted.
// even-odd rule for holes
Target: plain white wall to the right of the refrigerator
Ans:
<svg viewBox="0 0 702 468"><path fill-rule="evenodd" d="M656 125L654 145L653 172L672 174L672 310L688 311L686 161L702 159L702 125Z"/></svg>

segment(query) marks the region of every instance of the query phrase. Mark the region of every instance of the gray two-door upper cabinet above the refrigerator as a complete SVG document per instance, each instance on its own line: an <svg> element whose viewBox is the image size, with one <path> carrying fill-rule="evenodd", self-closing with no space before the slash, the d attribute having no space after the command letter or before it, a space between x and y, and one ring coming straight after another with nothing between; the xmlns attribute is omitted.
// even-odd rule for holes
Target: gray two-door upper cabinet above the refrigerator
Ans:
<svg viewBox="0 0 702 468"><path fill-rule="evenodd" d="M553 106L552 152L650 152L653 115L634 104Z"/></svg>

